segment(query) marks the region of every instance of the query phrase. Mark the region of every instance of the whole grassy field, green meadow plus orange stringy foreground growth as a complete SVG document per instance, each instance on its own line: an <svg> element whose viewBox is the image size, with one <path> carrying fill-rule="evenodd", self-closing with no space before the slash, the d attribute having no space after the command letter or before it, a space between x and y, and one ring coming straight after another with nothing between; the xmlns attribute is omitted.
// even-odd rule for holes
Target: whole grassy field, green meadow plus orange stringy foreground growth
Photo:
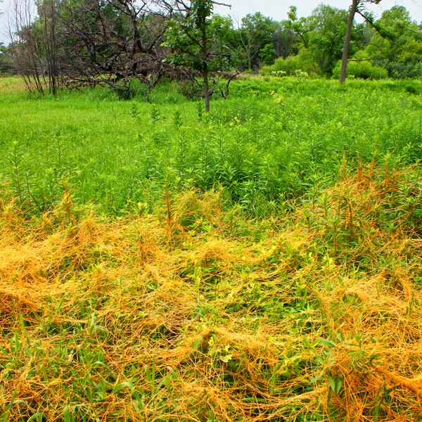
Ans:
<svg viewBox="0 0 422 422"><path fill-rule="evenodd" d="M422 421L421 91L0 79L1 420Z"/></svg>

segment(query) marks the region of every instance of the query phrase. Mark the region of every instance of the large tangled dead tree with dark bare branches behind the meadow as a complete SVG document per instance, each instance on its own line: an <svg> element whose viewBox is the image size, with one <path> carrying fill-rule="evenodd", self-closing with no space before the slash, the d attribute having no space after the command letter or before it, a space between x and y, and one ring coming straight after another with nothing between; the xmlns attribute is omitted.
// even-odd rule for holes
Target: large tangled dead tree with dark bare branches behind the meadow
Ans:
<svg viewBox="0 0 422 422"><path fill-rule="evenodd" d="M165 0L63 2L59 44L68 84L125 91L133 78L153 86L172 73L161 44L177 5Z"/></svg>

